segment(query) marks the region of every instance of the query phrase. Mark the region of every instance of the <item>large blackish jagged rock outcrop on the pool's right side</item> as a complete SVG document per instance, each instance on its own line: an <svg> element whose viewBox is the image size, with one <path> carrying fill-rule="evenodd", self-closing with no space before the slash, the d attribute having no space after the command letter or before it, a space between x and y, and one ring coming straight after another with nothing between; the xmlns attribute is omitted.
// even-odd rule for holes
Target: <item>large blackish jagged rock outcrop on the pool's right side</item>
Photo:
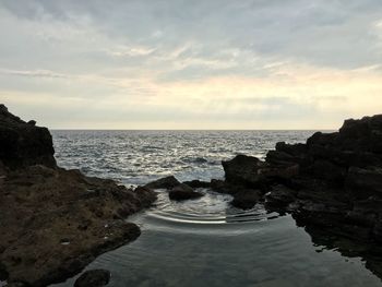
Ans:
<svg viewBox="0 0 382 287"><path fill-rule="evenodd" d="M225 183L270 191L270 210L305 225L382 241L381 147L382 116L346 120L338 132L318 132L306 144L277 143L265 162L241 155L223 163Z"/></svg>

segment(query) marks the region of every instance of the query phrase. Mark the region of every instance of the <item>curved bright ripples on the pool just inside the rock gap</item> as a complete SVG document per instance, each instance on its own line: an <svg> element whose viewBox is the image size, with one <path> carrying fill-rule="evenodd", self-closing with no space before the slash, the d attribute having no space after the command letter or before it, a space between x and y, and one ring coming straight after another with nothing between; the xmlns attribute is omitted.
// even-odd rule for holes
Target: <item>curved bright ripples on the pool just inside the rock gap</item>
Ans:
<svg viewBox="0 0 382 287"><path fill-rule="evenodd" d="M262 205L247 211L235 208L229 205L232 198L228 194L203 189L199 191L204 193L203 198L182 202L170 201L166 191L159 191L156 205L143 216L133 216L130 220L143 230L222 234L224 229L224 235L229 236L253 232L253 228L243 225L278 216L276 213L266 213Z"/></svg>

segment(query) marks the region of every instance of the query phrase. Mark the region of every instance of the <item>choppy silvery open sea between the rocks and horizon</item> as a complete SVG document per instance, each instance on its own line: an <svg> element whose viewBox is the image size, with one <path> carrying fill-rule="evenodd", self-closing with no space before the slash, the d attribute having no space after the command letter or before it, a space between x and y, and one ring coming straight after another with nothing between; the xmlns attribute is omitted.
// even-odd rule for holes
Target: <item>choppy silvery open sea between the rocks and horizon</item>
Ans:
<svg viewBox="0 0 382 287"><path fill-rule="evenodd" d="M67 168L126 184L158 177L222 178L222 160L264 158L276 142L305 142L313 131L52 131L56 158Z"/></svg>

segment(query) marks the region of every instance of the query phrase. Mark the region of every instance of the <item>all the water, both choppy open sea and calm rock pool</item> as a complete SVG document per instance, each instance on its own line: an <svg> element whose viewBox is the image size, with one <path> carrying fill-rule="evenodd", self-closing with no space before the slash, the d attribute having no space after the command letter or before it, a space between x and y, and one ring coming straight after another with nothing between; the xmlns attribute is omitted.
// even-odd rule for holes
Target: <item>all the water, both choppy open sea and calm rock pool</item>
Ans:
<svg viewBox="0 0 382 287"><path fill-rule="evenodd" d="M52 131L58 164L126 186L175 175L223 178L222 159L264 158L276 142L305 142L313 131ZM134 242L86 270L106 268L109 286L381 286L361 258L318 246L289 215L231 207L231 198L171 202L158 191L152 208L129 217ZM73 286L77 276L57 286Z"/></svg>

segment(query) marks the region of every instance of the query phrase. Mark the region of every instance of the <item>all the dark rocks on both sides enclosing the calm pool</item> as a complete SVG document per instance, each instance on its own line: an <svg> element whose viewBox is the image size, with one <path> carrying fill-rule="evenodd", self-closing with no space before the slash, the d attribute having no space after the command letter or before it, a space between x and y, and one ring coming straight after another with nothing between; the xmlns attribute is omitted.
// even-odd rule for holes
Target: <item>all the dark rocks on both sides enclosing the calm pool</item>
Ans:
<svg viewBox="0 0 382 287"><path fill-rule="evenodd" d="M140 236L124 219L167 190L174 201L232 195L231 205L290 214L318 244L361 256L382 277L382 116L347 120L305 144L277 143L265 160L223 162L225 179L166 177L136 189L57 166L52 139L0 105L0 282L46 286L80 273L97 255ZM94 275L95 274L95 275ZM82 282L94 282L96 272ZM99 271L103 282L109 280ZM77 283L77 286L83 283ZM93 283L94 284L94 283Z"/></svg>

